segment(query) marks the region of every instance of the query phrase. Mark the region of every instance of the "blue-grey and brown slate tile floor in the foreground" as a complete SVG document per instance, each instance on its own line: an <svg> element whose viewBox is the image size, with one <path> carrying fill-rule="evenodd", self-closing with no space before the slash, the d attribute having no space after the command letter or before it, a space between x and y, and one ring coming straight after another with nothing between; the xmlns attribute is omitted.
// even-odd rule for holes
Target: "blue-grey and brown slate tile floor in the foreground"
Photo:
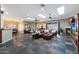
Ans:
<svg viewBox="0 0 79 59"><path fill-rule="evenodd" d="M20 40L20 38L18 38ZM66 35L55 36L47 41L42 38L33 40L31 35L21 35L23 47L14 48L12 41L0 47L0 54L75 54L76 48Z"/></svg>

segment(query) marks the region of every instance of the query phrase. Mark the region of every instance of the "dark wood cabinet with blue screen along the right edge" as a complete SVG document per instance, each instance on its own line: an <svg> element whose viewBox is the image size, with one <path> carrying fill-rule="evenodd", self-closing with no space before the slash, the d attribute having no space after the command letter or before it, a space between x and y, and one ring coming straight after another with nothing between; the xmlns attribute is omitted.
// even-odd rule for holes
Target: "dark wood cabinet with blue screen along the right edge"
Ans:
<svg viewBox="0 0 79 59"><path fill-rule="evenodd" d="M71 35L73 37L73 42L79 53L79 14L77 14L76 17L72 17Z"/></svg>

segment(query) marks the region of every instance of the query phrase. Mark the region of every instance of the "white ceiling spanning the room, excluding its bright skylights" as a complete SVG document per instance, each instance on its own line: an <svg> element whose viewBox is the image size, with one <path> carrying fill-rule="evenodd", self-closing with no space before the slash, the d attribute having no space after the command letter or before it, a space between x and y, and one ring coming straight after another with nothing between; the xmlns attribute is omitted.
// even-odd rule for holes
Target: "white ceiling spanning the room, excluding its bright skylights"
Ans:
<svg viewBox="0 0 79 59"><path fill-rule="evenodd" d="M61 6L64 6L65 14L58 15L56 9ZM48 20L49 13L52 15L52 20L59 20L71 17L79 12L79 4L45 4L44 11L41 11L40 4L5 4L2 5L2 8L5 8L4 11L8 12L8 14L4 14L4 16L10 18L20 18L26 21L28 21L28 17L34 19L37 18L39 20ZM38 17L38 14L43 14L46 16L46 19Z"/></svg>

